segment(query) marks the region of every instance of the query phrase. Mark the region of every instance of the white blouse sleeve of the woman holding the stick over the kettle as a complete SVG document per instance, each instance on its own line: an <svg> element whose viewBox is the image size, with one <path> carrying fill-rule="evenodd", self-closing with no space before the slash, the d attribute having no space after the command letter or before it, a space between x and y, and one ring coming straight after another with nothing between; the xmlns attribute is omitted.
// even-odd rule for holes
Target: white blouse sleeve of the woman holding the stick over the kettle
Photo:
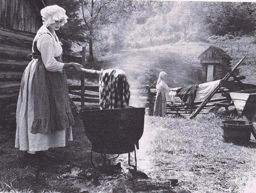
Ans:
<svg viewBox="0 0 256 193"><path fill-rule="evenodd" d="M64 63L54 58L54 40L49 34L42 34L37 41L37 48L41 53L45 69L50 72L62 72Z"/></svg>

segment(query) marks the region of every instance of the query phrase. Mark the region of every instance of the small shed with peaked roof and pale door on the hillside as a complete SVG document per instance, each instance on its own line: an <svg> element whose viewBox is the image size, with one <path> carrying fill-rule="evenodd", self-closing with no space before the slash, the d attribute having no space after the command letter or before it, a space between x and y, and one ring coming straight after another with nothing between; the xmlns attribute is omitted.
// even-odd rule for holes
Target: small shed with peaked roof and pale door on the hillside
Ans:
<svg viewBox="0 0 256 193"><path fill-rule="evenodd" d="M216 46L208 47L198 58L207 82L222 79L231 68L232 58Z"/></svg>

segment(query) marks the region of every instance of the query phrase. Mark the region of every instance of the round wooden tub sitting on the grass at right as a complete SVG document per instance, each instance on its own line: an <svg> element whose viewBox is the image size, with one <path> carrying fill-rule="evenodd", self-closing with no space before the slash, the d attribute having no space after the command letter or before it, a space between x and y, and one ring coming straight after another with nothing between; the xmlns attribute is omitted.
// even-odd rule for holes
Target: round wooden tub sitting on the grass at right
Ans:
<svg viewBox="0 0 256 193"><path fill-rule="evenodd" d="M248 144L253 124L248 121L222 121L222 137L226 142Z"/></svg>

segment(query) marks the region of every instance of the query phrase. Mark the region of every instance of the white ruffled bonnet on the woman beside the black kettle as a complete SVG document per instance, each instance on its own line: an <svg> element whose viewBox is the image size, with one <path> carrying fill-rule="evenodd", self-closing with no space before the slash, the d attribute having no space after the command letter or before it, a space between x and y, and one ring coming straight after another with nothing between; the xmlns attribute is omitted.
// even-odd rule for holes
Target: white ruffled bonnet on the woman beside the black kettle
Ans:
<svg viewBox="0 0 256 193"><path fill-rule="evenodd" d="M51 5L47 6L40 11L41 16L43 17L43 24L48 27L51 24L55 23L56 21L59 20L64 20L63 24L67 23L67 16L66 16L66 10L63 9L62 7L59 7L57 5Z"/></svg>

